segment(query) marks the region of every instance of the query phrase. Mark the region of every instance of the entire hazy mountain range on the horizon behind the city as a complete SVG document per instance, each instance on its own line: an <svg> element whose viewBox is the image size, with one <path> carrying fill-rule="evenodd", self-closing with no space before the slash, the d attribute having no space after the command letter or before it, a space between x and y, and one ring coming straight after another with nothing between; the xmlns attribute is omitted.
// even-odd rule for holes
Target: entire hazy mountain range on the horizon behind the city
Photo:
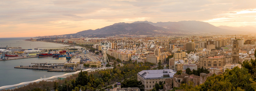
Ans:
<svg viewBox="0 0 256 91"><path fill-rule="evenodd" d="M256 28L252 26L230 27L230 26L214 26L210 23L201 21L180 21L180 22L157 22L138 21L134 23L115 23L96 30L84 30L77 32L80 35L152 35L152 34L168 34L173 32L186 33L212 33L212 34L240 34L256 33Z"/></svg>

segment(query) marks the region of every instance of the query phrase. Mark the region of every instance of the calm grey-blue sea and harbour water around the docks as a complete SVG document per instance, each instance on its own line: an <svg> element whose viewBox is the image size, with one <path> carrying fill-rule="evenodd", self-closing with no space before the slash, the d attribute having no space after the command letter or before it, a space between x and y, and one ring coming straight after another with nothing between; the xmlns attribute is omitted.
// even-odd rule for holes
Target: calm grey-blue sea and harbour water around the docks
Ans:
<svg viewBox="0 0 256 91"><path fill-rule="evenodd" d="M24 39L29 38L0 38L0 44L2 47L10 45L10 47L22 47L22 49L34 49L36 47L63 47L67 45L48 43L48 42L31 42L24 41ZM43 49L43 48L38 48ZM54 48L56 49L56 48ZM52 58L52 57L43 57L43 58L25 58L25 59L16 59L16 60L6 60L0 61L0 87L5 85L12 85L22 82L28 82L40 79L40 77L52 77L55 75L62 75L68 72L47 72L47 70L35 70L35 69L21 69L14 68L15 66L29 66L31 63L64 63L68 62L69 59L63 58Z"/></svg>

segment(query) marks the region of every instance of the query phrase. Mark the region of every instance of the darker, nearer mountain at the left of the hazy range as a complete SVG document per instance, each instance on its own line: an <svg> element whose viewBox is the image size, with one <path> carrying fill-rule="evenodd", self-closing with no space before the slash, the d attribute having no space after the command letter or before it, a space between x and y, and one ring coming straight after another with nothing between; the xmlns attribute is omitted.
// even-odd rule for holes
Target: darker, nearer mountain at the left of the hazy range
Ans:
<svg viewBox="0 0 256 91"><path fill-rule="evenodd" d="M158 31L156 31L158 30ZM117 35L117 34L160 34L160 32L167 32L168 29L151 25L149 23L115 23L96 30L84 30L76 34L81 35Z"/></svg>

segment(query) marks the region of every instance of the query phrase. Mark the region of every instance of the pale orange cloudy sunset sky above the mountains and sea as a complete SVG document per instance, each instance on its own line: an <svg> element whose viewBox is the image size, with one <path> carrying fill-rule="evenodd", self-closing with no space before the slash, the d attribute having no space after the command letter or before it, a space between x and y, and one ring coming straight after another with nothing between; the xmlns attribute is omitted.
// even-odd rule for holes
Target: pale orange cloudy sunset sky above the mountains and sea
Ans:
<svg viewBox="0 0 256 91"><path fill-rule="evenodd" d="M0 38L72 34L136 21L256 27L255 4L256 0L1 0Z"/></svg>

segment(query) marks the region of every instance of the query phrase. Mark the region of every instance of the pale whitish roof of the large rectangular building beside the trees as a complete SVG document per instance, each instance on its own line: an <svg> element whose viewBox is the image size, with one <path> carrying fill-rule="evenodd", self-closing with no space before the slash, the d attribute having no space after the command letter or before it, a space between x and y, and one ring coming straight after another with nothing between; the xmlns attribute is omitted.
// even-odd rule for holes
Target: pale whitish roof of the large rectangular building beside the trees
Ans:
<svg viewBox="0 0 256 91"><path fill-rule="evenodd" d="M172 69L142 70L138 73L143 79L173 78L176 71Z"/></svg>

